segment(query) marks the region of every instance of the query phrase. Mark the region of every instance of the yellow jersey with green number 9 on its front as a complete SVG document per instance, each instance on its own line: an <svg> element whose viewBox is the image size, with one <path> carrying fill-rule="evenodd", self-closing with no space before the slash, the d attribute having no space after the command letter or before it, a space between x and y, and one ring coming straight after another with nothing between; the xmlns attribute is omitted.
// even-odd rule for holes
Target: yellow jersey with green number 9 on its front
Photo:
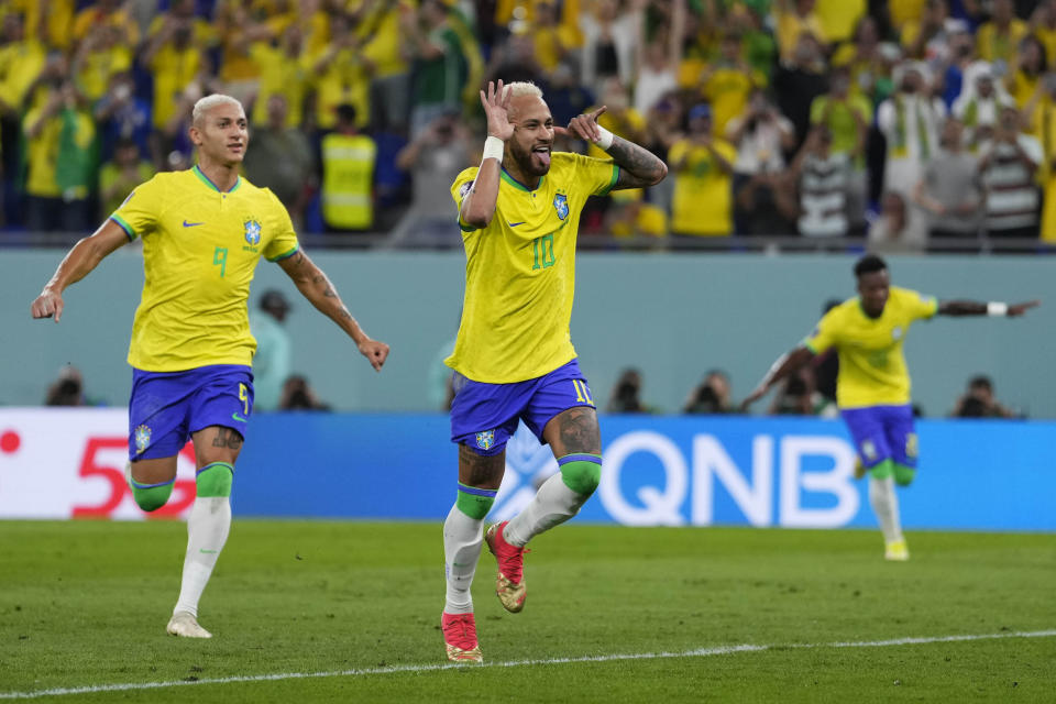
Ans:
<svg viewBox="0 0 1056 704"><path fill-rule="evenodd" d="M143 297L129 364L179 372L253 362L246 300L261 256L297 252L289 213L272 191L243 178L221 193L197 166L157 174L110 219L143 238Z"/></svg>

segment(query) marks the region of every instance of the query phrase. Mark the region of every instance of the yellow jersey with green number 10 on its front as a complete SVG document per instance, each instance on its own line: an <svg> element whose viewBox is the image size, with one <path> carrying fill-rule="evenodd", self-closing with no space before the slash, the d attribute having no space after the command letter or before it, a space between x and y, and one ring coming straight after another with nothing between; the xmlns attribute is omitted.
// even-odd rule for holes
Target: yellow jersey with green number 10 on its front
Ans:
<svg viewBox="0 0 1056 704"><path fill-rule="evenodd" d="M461 207L477 167L455 178ZM475 382L510 384L549 374L575 358L569 333L575 239L588 196L616 184L612 161L554 152L535 190L505 170L491 224L459 222L465 244L465 301L448 366Z"/></svg>

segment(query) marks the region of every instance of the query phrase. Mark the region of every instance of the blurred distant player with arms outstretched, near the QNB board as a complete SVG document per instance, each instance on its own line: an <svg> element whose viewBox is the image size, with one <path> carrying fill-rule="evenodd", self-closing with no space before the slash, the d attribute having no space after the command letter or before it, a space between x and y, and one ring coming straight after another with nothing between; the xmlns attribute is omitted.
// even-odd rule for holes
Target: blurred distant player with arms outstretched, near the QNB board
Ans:
<svg viewBox="0 0 1056 704"><path fill-rule="evenodd" d="M891 286L888 265L868 254L855 264L858 296L829 310L800 346L773 363L741 405L747 409L782 378L816 354L836 348L836 403L869 472L869 503L880 521L884 558L909 560L899 521L894 483L908 486L916 474L917 440L910 405L910 375L902 343L916 320L941 316L1022 316L1038 305L968 300L938 301Z"/></svg>

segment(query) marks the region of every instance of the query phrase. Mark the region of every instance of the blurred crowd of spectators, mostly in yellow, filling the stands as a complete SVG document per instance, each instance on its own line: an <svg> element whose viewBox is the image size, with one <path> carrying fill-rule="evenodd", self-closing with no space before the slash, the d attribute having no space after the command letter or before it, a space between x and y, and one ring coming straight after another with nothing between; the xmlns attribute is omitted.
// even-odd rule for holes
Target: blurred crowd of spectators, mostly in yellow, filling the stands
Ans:
<svg viewBox="0 0 1056 704"><path fill-rule="evenodd" d="M1056 0L4 0L4 229L81 232L188 168L202 95L305 232L449 246L479 88L542 87L670 166L592 202L635 241L1056 241ZM554 148L603 155L559 139ZM1034 248L1036 249L1036 248Z"/></svg>

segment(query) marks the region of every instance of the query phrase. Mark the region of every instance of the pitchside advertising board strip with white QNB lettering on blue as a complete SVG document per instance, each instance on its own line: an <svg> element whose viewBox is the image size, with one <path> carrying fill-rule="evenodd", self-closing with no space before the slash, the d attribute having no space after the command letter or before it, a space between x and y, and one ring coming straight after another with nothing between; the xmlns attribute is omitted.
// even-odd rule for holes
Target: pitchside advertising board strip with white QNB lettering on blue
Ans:
<svg viewBox="0 0 1056 704"><path fill-rule="evenodd" d="M142 518L124 485L123 409L0 410L0 517ZM442 520L458 453L428 415L254 416L232 495L238 516ZM900 490L909 528L1056 530L1056 424L923 421L921 469ZM876 525L868 484L839 421L602 418L602 484L578 520L631 526ZM524 428L491 519L516 514L558 471ZM169 504L194 501L194 454L178 458Z"/></svg>

